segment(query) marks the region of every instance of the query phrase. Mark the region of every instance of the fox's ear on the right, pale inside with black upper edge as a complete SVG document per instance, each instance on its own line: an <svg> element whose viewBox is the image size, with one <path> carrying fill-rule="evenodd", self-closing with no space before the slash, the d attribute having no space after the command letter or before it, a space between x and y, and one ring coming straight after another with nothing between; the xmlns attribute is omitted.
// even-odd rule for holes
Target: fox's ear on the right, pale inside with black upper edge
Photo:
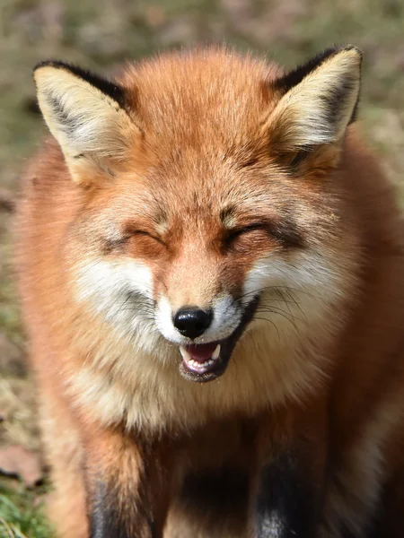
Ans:
<svg viewBox="0 0 404 538"><path fill-rule="evenodd" d="M355 47L329 48L275 82L281 97L267 128L276 151L295 153L342 142L356 116L361 60Z"/></svg>

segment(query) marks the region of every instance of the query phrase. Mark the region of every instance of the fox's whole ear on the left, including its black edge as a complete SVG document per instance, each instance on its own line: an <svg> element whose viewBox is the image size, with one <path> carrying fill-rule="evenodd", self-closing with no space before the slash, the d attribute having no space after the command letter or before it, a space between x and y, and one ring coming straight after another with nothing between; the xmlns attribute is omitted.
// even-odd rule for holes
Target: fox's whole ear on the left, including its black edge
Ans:
<svg viewBox="0 0 404 538"><path fill-rule="evenodd" d="M62 62L38 65L34 79L42 115L75 181L82 182L89 167L112 173L111 162L121 159L139 134L125 109L125 91Z"/></svg>

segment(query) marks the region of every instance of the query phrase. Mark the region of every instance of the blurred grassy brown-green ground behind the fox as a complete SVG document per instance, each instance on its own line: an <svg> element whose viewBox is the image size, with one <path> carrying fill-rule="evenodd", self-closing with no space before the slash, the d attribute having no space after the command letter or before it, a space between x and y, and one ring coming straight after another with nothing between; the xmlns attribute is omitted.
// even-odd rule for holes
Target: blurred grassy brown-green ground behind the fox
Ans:
<svg viewBox="0 0 404 538"><path fill-rule="evenodd" d="M404 0L0 0L0 538L51 536L11 266L19 178L46 132L32 67L53 57L113 76L127 59L224 42L288 67L362 48L359 128L404 202Z"/></svg>

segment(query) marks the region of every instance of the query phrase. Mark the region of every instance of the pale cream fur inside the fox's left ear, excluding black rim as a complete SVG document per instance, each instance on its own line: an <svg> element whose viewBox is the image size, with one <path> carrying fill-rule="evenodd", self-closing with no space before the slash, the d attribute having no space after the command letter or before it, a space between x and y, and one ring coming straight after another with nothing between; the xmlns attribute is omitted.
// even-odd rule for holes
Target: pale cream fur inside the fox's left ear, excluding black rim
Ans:
<svg viewBox="0 0 404 538"><path fill-rule="evenodd" d="M41 112L67 164L83 155L100 161L124 153L124 134L136 128L118 102L61 67L39 67L35 82Z"/></svg>

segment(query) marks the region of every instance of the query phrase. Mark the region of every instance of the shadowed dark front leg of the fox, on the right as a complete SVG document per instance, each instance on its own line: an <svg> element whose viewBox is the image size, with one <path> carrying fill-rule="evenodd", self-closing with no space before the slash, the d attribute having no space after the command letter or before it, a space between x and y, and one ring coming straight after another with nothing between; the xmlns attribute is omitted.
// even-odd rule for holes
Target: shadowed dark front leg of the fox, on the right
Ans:
<svg viewBox="0 0 404 538"><path fill-rule="evenodd" d="M250 490L254 538L315 538L327 468L326 407L307 402L261 421Z"/></svg>

